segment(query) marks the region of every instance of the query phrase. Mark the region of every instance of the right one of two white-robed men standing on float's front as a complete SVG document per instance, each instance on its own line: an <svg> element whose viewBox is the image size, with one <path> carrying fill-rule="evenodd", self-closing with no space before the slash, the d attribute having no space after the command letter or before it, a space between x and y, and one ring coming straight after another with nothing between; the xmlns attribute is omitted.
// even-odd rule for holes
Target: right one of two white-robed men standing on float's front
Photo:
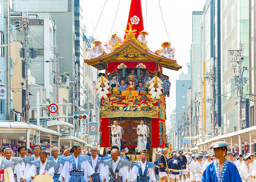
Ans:
<svg viewBox="0 0 256 182"><path fill-rule="evenodd" d="M149 127L144 125L144 120L140 120L140 125L137 126L138 143L137 152L140 150L146 150L147 135L150 132ZM147 151L147 150L146 150Z"/></svg>

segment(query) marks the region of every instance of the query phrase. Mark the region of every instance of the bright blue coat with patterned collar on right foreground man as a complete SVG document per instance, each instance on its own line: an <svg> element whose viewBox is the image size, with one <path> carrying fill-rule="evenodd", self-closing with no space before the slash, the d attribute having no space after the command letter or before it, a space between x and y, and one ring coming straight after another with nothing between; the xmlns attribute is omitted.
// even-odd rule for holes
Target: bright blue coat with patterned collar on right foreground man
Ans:
<svg viewBox="0 0 256 182"><path fill-rule="evenodd" d="M225 159L221 174L219 174L219 165L215 160L203 172L202 182L242 182L242 179L236 165Z"/></svg>

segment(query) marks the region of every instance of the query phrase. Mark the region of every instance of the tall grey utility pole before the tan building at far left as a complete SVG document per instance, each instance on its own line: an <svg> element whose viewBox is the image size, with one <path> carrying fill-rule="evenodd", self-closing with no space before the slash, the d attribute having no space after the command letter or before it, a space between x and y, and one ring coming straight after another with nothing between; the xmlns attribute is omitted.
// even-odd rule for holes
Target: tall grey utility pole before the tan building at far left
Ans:
<svg viewBox="0 0 256 182"><path fill-rule="evenodd" d="M24 57L25 57L25 74L26 74L26 122L29 123L29 99L28 99L28 18L23 12L24 22Z"/></svg>

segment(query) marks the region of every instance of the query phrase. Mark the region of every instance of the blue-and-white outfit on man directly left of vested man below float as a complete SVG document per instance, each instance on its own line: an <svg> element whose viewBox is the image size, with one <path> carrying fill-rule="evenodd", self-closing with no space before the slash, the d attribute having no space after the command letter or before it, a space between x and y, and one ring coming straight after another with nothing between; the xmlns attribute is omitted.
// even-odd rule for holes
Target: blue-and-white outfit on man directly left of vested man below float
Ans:
<svg viewBox="0 0 256 182"><path fill-rule="evenodd" d="M102 158L96 156L95 160L93 160L93 157L90 157L89 163L91 167L93 167L95 173L91 175L91 178L93 178L93 182L100 182L100 171L104 167Z"/></svg>

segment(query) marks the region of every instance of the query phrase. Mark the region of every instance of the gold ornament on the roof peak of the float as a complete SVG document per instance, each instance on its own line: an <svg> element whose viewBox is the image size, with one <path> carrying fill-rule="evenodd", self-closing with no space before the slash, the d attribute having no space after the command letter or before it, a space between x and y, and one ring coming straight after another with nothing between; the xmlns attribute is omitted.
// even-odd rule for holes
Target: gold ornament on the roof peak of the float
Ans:
<svg viewBox="0 0 256 182"><path fill-rule="evenodd" d="M132 24L131 23L128 23L129 25L129 30L125 30L125 32L127 32L127 34L125 35L125 39L124 41L121 43L121 42L116 42L114 47L113 47L113 51L122 47L122 45L124 45L126 42L128 42L129 40L133 41L134 43L136 43L137 45L139 45L142 49L148 51L148 48L147 46L144 44L144 43L141 43L140 41L138 41L136 39L136 36L135 36L135 33L137 30L133 29L132 30Z"/></svg>

